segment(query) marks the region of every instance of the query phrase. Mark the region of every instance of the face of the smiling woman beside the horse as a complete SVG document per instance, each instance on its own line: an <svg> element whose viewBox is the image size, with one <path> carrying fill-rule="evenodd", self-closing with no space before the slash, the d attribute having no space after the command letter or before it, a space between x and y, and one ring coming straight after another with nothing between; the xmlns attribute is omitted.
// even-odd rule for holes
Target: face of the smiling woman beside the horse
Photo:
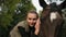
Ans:
<svg viewBox="0 0 66 37"><path fill-rule="evenodd" d="M36 21L37 21L36 14L35 13L29 13L26 21L28 21L30 26L34 26Z"/></svg>

